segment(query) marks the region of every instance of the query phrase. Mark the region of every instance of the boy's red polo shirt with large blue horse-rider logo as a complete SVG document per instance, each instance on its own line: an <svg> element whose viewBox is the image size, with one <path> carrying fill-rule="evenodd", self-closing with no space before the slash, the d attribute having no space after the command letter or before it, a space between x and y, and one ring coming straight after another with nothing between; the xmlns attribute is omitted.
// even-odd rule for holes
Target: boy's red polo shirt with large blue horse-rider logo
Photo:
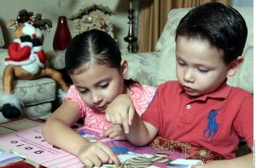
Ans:
<svg viewBox="0 0 256 168"><path fill-rule="evenodd" d="M142 115L159 136L208 148L226 159L236 157L241 138L253 146L253 96L224 83L216 92L190 98L177 81L158 87Z"/></svg>

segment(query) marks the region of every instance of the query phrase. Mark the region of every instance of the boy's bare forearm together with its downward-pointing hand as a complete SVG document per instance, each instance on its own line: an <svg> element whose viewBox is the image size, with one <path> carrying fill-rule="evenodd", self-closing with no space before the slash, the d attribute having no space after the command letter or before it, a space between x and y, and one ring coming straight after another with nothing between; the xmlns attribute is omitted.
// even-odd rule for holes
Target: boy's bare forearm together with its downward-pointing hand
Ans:
<svg viewBox="0 0 256 168"><path fill-rule="evenodd" d="M127 94L119 95L108 105L106 119L123 126L125 137L138 146L150 143L158 133L154 126L141 120Z"/></svg>

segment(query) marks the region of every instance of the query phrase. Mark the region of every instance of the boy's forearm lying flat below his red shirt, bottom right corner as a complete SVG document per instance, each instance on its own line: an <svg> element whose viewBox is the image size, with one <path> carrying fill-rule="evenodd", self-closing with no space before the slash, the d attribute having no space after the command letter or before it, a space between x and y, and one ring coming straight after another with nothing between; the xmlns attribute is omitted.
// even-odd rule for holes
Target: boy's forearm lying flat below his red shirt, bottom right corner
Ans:
<svg viewBox="0 0 256 168"><path fill-rule="evenodd" d="M253 147L251 148L253 151ZM192 168L241 168L241 167L253 167L253 153L243 155L241 157L232 160L215 160L207 163L206 165L193 165Z"/></svg>

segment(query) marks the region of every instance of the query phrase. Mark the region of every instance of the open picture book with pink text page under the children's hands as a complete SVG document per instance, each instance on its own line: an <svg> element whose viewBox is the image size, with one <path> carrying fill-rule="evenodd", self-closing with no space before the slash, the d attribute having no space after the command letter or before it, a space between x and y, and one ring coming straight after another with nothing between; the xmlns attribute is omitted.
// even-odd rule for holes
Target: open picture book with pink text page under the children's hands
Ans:
<svg viewBox="0 0 256 168"><path fill-rule="evenodd" d="M0 149L19 155L26 159L31 165L39 167L84 167L73 154L55 148L47 143L42 136L42 126L33 127L18 132L12 132L0 137ZM151 147L136 147L126 141L114 141L102 137L97 130L81 127L80 135L90 141L102 141L107 143L114 153L118 155L122 165L129 167L168 167L172 160L186 159L188 154L155 149ZM103 167L114 167L114 165L103 165Z"/></svg>

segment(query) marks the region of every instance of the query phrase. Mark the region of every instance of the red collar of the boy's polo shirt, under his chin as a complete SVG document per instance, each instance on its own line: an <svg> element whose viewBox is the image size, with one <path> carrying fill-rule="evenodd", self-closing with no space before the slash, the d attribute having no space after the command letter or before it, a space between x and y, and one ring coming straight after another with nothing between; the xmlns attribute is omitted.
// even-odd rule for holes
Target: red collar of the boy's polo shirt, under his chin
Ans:
<svg viewBox="0 0 256 168"><path fill-rule="evenodd" d="M226 83L227 79L223 82L223 84L221 84L220 87L218 87L218 89L214 92L205 94L201 97L198 98L191 98L189 97L189 95L186 94L186 92L184 91L183 87L181 85L179 85L179 92L180 94L185 94L188 98L191 99L196 99L196 100L206 100L207 98L228 98L230 91L231 91L231 87L227 85Z"/></svg>

